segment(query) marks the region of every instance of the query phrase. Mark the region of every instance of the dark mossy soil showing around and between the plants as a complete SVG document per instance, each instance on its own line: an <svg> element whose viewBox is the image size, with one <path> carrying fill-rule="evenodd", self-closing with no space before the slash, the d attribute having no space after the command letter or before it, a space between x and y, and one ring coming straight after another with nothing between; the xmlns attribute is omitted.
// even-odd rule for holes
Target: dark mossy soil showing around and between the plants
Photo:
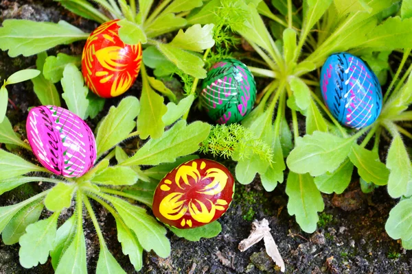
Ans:
<svg viewBox="0 0 412 274"><path fill-rule="evenodd" d="M54 1L0 0L0 11L0 22L6 18L26 18L52 22L66 20L85 30L97 26L67 12ZM82 45L78 42L72 46L58 47L49 51L49 55L57 52L80 54ZM0 52L1 81L14 71L33 67L35 61L35 57L9 58L7 53ZM137 82L127 95L139 97L140 89L141 84ZM9 98L17 108L9 103L8 117L16 132L25 136L27 108L39 105L31 82L10 86ZM89 125L95 127L110 105L117 105L120 99L122 97L107 100L105 110L93 121L88 121ZM34 161L34 156L29 153L23 154L23 157ZM0 205L22 201L43 188L47 186L31 184L6 192L0 197ZM402 249L400 242L389 238L385 232L389 211L396 204L385 188L364 195L358 182L354 181L342 195L323 195L325 210L319 214L318 229L313 234L302 232L295 217L289 216L287 199L284 184L277 186L273 192L265 192L259 178L249 186L238 184L231 208L219 220L222 232L216 238L189 242L169 232L171 256L162 259L155 253L145 252L141 273L280 273L266 255L263 242L244 253L238 250L240 240L249 236L253 219L263 218L269 221L273 238L286 264L286 273L412 272L412 253ZM135 273L117 242L113 217L98 206L95 206L95 212L98 221L103 224L109 249L127 273ZM64 212L60 222L71 213L72 210ZM44 214L43 217L47 213ZM99 251L98 238L90 219L84 221L84 232L89 273L94 273ZM34 269L23 269L19 264L19 245L4 245L0 240L0 273L53 273L53 269L50 260Z"/></svg>

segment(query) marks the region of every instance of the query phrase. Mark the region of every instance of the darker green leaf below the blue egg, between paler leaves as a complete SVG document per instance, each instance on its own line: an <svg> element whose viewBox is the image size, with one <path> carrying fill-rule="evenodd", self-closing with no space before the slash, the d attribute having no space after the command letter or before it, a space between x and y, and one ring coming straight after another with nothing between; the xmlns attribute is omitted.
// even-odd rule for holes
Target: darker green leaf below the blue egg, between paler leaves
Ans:
<svg viewBox="0 0 412 274"><path fill-rule="evenodd" d="M378 186L385 186L388 183L389 170L380 162L378 153L355 144L352 146L349 158L366 182L373 182Z"/></svg>

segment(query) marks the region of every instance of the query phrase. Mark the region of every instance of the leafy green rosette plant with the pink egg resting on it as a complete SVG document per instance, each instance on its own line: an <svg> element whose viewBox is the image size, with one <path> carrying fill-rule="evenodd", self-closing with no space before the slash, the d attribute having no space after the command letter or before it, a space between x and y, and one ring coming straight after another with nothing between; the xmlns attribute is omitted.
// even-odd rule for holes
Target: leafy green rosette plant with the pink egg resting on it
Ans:
<svg viewBox="0 0 412 274"><path fill-rule="evenodd" d="M56 273L87 273L86 243L83 233L84 208L93 221L100 243L97 273L124 273L123 269L106 246L102 229L93 211L93 203L110 212L117 225L117 238L130 262L139 271L142 266L142 252L153 250L158 256L166 258L170 254L170 242L165 237L166 230L146 209L130 201L152 205L153 192L159 179L175 166L194 156L181 156L194 153L198 145L209 134L209 125L194 122L187 125L177 121L181 114L170 112L174 125L161 138L150 139L137 152L129 157L117 144L138 136L132 132L137 123L141 105L135 97L124 98L117 107L112 107L102 119L97 129L97 159L93 168L78 178L53 175L47 169L24 160L19 155L0 149L0 195L17 186L30 182L52 184L25 201L0 207L0 232L6 245L19 242L21 245L20 263L31 268L38 263L44 264L52 257ZM173 115L172 115L173 114ZM31 150L27 143L13 132L10 121L5 118L0 123L0 142L21 146ZM117 164L110 165L112 158ZM179 159L177 159L179 158ZM141 166L154 166L141 169ZM65 208L70 208L74 200L71 218L57 228L59 216ZM38 221L43 208L50 214ZM211 223L200 229L180 231L172 229L178 236L189 240L216 236L220 224Z"/></svg>

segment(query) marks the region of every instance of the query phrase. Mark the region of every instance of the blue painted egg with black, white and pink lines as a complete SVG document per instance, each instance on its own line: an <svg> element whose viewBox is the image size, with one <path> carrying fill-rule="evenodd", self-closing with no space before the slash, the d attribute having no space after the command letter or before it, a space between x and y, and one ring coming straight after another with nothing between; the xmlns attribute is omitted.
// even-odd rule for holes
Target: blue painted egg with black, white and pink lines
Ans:
<svg viewBox="0 0 412 274"><path fill-rule="evenodd" d="M382 110L378 78L365 62L350 53L335 53L325 61L321 90L334 118L347 127L367 127Z"/></svg>

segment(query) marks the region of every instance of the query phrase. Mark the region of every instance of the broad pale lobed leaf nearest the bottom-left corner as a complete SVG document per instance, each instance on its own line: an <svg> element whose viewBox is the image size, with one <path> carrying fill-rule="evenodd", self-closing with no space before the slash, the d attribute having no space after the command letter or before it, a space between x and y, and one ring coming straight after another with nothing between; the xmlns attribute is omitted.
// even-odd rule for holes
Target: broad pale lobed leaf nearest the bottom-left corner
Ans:
<svg viewBox="0 0 412 274"><path fill-rule="evenodd" d="M26 228L27 233L20 237L20 264L26 269L47 262L56 237L59 215L60 212L56 212L47 219L29 225Z"/></svg>

